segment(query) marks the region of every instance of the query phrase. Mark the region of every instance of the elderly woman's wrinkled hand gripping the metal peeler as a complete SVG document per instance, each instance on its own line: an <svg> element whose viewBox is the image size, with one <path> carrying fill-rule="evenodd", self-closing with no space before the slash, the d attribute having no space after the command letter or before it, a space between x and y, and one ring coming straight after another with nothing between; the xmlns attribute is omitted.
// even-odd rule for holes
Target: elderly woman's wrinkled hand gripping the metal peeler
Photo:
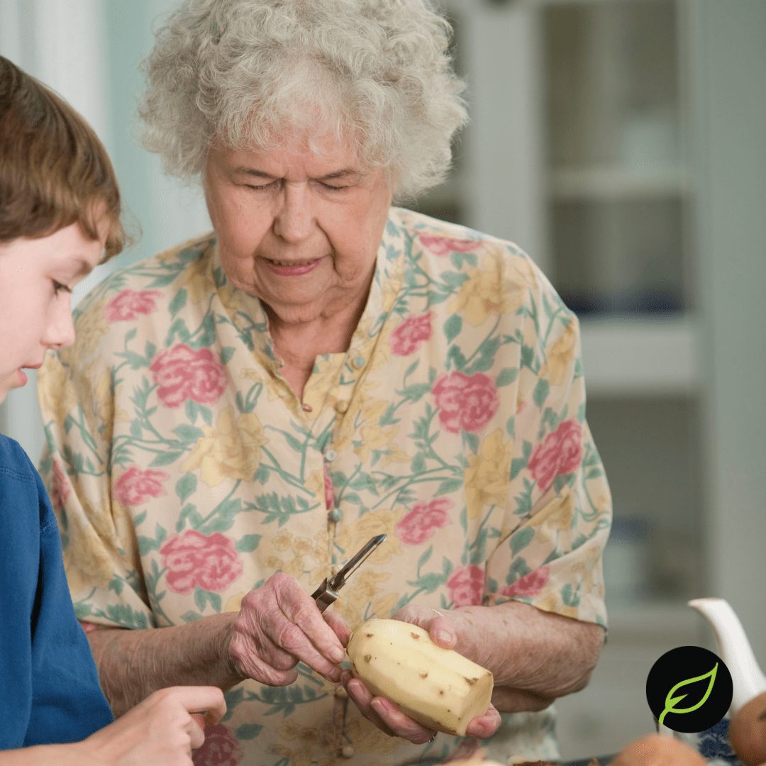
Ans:
<svg viewBox="0 0 766 766"><path fill-rule="evenodd" d="M242 599L228 647L243 678L287 686L298 677L299 662L337 683L348 640L341 617L332 610L323 615L295 578L277 574Z"/></svg>

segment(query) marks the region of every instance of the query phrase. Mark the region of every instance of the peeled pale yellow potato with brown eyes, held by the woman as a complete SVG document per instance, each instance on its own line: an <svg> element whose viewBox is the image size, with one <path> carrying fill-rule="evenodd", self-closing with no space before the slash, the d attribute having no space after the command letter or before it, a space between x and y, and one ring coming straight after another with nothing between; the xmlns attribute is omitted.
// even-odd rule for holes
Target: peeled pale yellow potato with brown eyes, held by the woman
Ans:
<svg viewBox="0 0 766 766"><path fill-rule="evenodd" d="M346 651L355 676L373 694L388 697L427 728L463 736L489 708L492 673L437 646L417 625L368 620L352 633Z"/></svg>

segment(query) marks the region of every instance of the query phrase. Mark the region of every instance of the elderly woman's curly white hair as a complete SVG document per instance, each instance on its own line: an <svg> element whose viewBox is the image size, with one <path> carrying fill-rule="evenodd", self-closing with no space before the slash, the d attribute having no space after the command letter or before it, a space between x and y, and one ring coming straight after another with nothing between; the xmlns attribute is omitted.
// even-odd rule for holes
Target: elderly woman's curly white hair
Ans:
<svg viewBox="0 0 766 766"><path fill-rule="evenodd" d="M467 119L451 34L430 0L184 0L144 62L142 141L194 178L211 146L308 130L354 142L415 198L444 179Z"/></svg>

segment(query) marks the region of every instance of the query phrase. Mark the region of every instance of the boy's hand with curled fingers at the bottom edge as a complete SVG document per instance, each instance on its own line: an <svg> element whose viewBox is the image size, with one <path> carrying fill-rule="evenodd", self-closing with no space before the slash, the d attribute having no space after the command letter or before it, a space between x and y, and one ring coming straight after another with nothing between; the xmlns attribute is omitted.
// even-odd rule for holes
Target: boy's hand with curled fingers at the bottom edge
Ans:
<svg viewBox="0 0 766 766"><path fill-rule="evenodd" d="M224 692L215 686L172 686L70 747L80 748L83 764L191 766L192 749L205 741L200 719L214 725L225 712Z"/></svg>

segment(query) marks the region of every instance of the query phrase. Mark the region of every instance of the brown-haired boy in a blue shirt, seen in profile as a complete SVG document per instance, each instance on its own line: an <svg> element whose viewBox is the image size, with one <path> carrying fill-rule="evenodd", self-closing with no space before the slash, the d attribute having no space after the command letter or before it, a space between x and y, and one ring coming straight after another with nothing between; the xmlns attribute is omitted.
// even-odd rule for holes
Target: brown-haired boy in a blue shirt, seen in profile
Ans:
<svg viewBox="0 0 766 766"><path fill-rule="evenodd" d="M74 340L71 291L123 247L119 190L93 130L0 57L0 401ZM102 257L103 256L103 257ZM74 616L41 479L0 434L0 761L191 764L220 689L162 689L116 722ZM63 743L63 744L54 744ZM68 743L68 744L67 744ZM12 749L21 748L21 749Z"/></svg>

